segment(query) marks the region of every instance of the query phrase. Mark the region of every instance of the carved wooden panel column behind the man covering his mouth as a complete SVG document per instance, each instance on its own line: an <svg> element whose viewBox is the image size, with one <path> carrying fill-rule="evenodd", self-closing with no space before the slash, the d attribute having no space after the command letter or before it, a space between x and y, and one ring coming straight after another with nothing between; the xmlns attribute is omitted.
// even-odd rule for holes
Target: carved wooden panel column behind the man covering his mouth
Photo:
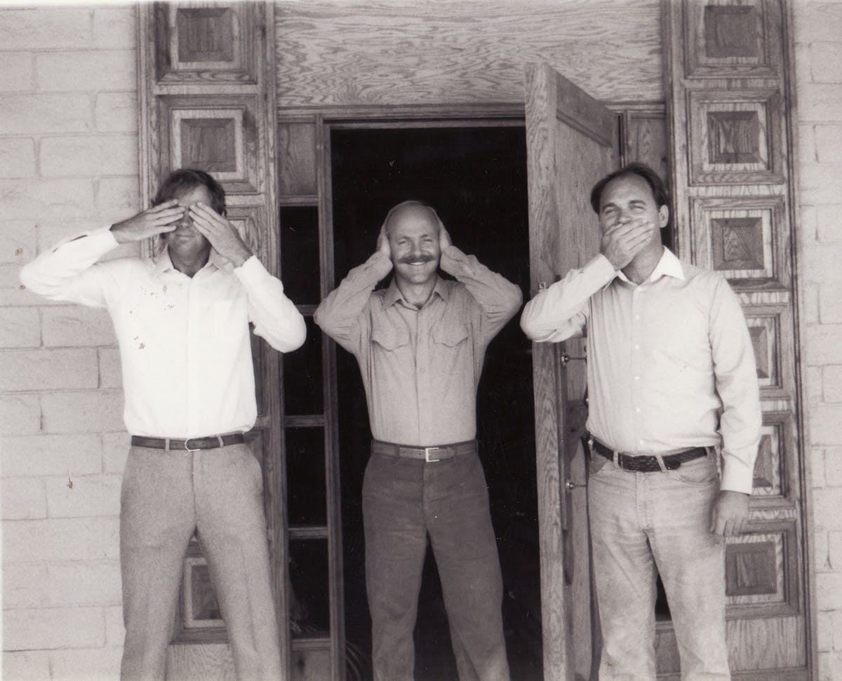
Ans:
<svg viewBox="0 0 842 681"><path fill-rule="evenodd" d="M806 673L786 0L664 0L679 257L722 273L749 324L764 420L751 531L727 540L733 671ZM675 672L664 628L659 672ZM795 676L793 676L795 674ZM667 678L666 676L664 678Z"/></svg>

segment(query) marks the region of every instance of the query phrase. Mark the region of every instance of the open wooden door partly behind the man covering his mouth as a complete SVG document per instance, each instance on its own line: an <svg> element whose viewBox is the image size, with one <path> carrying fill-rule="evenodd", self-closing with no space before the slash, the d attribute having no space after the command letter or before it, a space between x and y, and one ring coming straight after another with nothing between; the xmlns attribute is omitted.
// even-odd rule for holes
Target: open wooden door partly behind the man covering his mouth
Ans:
<svg viewBox="0 0 842 681"><path fill-rule="evenodd" d="M530 286L598 253L591 187L615 167L616 115L547 65L526 69ZM593 641L584 338L533 343L544 678L589 679ZM598 628L596 629L598 630Z"/></svg>

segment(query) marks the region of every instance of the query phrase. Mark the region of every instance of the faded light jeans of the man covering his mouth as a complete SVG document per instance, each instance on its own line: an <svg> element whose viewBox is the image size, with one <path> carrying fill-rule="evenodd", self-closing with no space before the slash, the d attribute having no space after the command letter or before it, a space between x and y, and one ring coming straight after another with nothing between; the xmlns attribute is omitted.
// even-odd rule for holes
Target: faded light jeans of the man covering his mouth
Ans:
<svg viewBox="0 0 842 681"><path fill-rule="evenodd" d="M724 540L709 531L716 454L675 471L623 471L592 455L588 509L602 628L600 681L653 681L656 570L685 681L729 679Z"/></svg>

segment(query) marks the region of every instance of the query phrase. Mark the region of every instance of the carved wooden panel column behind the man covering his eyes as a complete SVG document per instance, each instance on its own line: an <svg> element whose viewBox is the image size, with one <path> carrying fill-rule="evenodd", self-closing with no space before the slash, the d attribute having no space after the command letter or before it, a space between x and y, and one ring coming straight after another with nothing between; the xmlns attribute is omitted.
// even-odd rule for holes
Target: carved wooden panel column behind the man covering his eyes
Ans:
<svg viewBox="0 0 842 681"><path fill-rule="evenodd" d="M141 195L148 202L176 168L200 168L226 191L228 219L266 269L280 274L275 164L274 3L138 6ZM147 248L147 253L149 249ZM248 442L264 471L280 644L289 665L287 528L280 355L252 338L258 420ZM173 678L226 678L224 623L198 545L184 563Z"/></svg>

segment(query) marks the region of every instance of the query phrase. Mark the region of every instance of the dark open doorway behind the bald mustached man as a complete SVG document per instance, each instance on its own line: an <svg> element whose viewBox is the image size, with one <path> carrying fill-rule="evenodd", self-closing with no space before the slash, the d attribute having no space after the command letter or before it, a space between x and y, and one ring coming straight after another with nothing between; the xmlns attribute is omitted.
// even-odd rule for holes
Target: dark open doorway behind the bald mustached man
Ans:
<svg viewBox="0 0 842 681"><path fill-rule="evenodd" d="M331 131L336 281L374 252L387 210L434 205L456 246L529 294L523 125L334 128ZM381 283L385 285L388 282ZM488 348L477 396L477 437L504 577L504 630L512 678L542 676L531 345L518 316ZM370 659L361 489L370 429L360 370L337 349L345 636ZM428 550L415 630L418 681L457 679L444 603ZM370 668L359 669L370 678ZM349 673L349 677L351 674Z"/></svg>

